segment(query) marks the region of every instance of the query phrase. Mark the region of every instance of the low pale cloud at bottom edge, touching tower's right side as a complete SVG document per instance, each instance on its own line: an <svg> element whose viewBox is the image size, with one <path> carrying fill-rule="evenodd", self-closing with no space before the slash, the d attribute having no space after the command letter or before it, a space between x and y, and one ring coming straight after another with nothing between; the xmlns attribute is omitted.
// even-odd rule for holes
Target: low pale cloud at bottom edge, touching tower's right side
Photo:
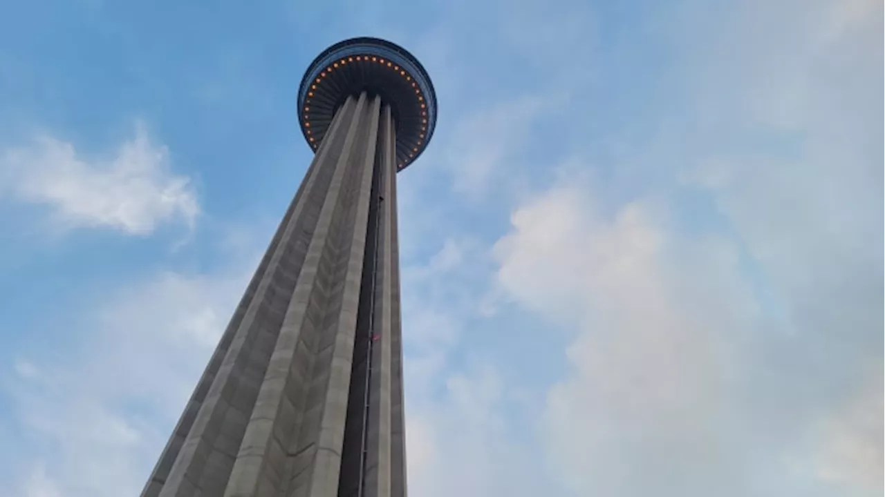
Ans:
<svg viewBox="0 0 885 497"><path fill-rule="evenodd" d="M508 416L508 394L488 366L446 375L435 401L409 406L406 436L409 493L540 495L556 490L535 453Z"/></svg>

